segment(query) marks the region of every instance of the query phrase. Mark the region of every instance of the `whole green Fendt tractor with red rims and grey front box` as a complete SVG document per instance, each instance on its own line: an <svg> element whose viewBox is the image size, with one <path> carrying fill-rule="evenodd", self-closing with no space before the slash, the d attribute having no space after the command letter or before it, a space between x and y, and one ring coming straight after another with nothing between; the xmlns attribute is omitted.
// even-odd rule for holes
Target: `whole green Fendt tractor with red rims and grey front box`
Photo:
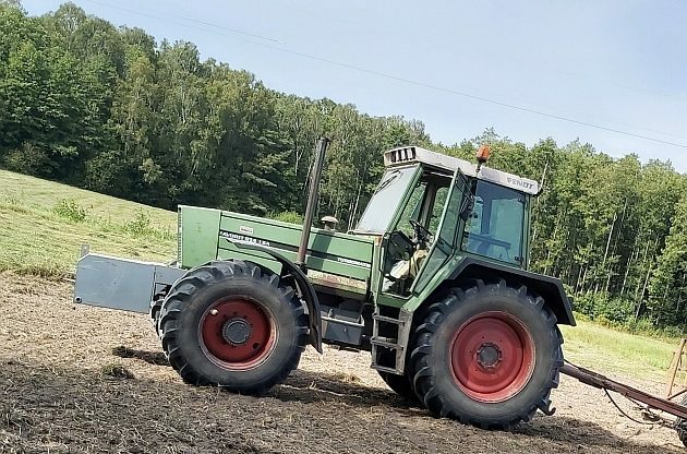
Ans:
<svg viewBox="0 0 687 454"><path fill-rule="evenodd" d="M537 181L415 146L384 153L358 226L179 207L174 265L84 252L74 299L149 312L181 378L260 395L310 344L371 351L395 392L489 429L550 409L563 367L562 283L527 271ZM334 219L328 219L334 220Z"/></svg>

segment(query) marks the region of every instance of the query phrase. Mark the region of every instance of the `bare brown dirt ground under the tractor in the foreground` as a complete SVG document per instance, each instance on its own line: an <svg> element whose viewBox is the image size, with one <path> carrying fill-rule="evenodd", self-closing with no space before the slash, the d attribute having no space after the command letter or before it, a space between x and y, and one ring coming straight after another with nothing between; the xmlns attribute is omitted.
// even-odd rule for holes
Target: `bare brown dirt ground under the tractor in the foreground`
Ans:
<svg viewBox="0 0 687 454"><path fill-rule="evenodd" d="M2 453L686 452L672 429L625 419L601 391L569 378L553 394L554 416L511 432L409 407L364 353L309 348L266 397L192 387L166 366L146 315L76 307L71 291L0 274Z"/></svg>

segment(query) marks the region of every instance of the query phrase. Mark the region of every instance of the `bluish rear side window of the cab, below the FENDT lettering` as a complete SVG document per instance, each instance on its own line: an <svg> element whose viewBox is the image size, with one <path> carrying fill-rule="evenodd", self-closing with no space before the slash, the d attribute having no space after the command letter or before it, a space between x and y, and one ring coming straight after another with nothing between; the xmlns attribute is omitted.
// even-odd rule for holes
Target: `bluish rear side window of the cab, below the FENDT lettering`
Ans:
<svg viewBox="0 0 687 454"><path fill-rule="evenodd" d="M474 206L462 236L461 249L520 265L523 218L523 194L480 180L474 192Z"/></svg>

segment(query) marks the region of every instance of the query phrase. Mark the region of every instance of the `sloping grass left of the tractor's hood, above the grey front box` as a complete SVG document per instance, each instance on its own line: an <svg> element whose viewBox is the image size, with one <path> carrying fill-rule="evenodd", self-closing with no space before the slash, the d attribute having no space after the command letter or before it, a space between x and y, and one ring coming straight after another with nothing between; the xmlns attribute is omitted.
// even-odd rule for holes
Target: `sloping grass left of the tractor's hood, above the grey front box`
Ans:
<svg viewBox="0 0 687 454"><path fill-rule="evenodd" d="M0 271L71 275L83 243L131 259L176 258L176 213L4 170L0 225Z"/></svg>

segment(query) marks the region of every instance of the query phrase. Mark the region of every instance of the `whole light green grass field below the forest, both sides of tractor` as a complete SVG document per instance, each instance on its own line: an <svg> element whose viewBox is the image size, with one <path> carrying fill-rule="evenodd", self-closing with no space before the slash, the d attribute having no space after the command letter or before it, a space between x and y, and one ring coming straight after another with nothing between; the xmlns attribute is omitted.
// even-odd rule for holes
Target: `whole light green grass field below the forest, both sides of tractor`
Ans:
<svg viewBox="0 0 687 454"><path fill-rule="evenodd" d="M70 275L80 246L119 256L168 262L176 254L176 213L0 170L0 271ZM677 345L590 322L563 327L566 358L580 366L665 380Z"/></svg>

